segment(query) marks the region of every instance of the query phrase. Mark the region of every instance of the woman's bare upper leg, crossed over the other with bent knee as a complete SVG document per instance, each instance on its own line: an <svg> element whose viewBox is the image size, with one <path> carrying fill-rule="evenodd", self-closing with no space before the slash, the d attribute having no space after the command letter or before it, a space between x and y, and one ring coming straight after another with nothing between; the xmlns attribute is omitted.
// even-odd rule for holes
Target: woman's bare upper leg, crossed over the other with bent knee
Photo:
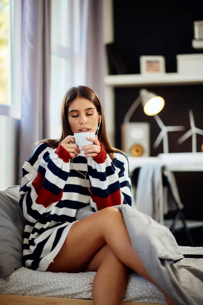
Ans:
<svg viewBox="0 0 203 305"><path fill-rule="evenodd" d="M48 271L80 272L106 244L124 265L154 283L132 248L121 212L114 207L105 208L73 224L54 263L49 265ZM107 279L105 271L100 271L100 273L103 275L101 278L105 281ZM154 284L156 285L156 283ZM97 285L100 286L98 281L95 281L94 289L97 291L95 297L99 299L102 296L99 297ZM164 295L168 304L175 304L170 297L165 293ZM106 300L108 301L108 299L109 295L106 293ZM94 303L99 304L96 299Z"/></svg>

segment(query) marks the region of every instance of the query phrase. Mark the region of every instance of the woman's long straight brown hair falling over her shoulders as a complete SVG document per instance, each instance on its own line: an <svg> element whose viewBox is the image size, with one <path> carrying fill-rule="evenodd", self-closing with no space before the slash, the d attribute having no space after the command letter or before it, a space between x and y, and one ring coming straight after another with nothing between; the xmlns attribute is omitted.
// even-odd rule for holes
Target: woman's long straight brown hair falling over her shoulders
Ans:
<svg viewBox="0 0 203 305"><path fill-rule="evenodd" d="M89 100L94 104L96 107L97 113L101 115L101 123L98 130L98 140L103 144L107 154L109 154L110 158L113 160L114 156L113 153L115 151L119 151L119 149L114 148L110 145L108 137L107 137L107 131L106 131L106 123L105 123L105 116L104 116L104 110L101 106L100 100L97 96L97 94L89 87L87 86L78 86L78 87L72 87L69 89L69 91L65 94L61 106L61 136L58 140L52 140L52 139L46 139L43 141L40 141L39 143L45 142L48 143L52 148L57 148L59 143L63 141L67 136L71 135L71 127L69 124L69 120L67 118L67 113L70 104L77 98L84 98Z"/></svg>

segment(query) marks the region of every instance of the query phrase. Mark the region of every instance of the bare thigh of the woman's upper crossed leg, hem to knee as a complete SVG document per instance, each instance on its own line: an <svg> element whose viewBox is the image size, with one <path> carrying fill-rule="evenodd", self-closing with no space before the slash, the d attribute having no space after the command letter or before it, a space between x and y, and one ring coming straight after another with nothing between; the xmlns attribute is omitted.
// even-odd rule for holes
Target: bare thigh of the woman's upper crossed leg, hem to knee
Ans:
<svg viewBox="0 0 203 305"><path fill-rule="evenodd" d="M71 227L63 246L48 271L80 272L93 256L106 245L104 226L112 214L120 213L108 207L76 222Z"/></svg>

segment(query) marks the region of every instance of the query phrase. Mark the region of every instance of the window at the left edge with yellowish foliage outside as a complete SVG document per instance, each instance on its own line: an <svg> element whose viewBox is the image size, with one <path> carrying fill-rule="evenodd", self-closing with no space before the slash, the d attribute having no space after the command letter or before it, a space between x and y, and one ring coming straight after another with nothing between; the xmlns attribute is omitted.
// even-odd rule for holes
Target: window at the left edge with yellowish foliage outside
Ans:
<svg viewBox="0 0 203 305"><path fill-rule="evenodd" d="M0 114L20 118L21 0L0 0Z"/></svg>

